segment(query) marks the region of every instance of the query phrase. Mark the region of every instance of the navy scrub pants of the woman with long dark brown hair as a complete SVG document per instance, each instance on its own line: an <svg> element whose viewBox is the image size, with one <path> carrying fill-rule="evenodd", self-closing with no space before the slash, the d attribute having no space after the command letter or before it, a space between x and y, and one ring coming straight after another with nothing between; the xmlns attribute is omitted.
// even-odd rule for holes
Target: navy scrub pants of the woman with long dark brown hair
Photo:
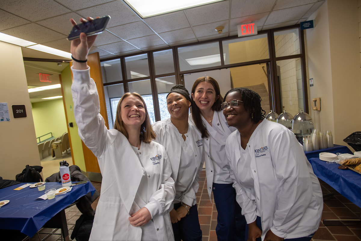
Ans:
<svg viewBox="0 0 361 241"><path fill-rule="evenodd" d="M244 241L246 219L236 201L232 184L213 183L213 196L218 211L216 234L218 241Z"/></svg>

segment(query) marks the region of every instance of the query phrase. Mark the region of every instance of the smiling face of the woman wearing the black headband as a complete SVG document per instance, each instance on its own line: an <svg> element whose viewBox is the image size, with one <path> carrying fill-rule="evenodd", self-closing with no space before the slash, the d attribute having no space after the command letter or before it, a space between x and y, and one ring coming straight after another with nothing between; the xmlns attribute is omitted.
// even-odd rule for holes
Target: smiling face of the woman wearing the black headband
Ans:
<svg viewBox="0 0 361 241"><path fill-rule="evenodd" d="M179 119L186 117L188 119L188 109L191 102L183 95L172 92L167 97L167 108L171 118Z"/></svg>

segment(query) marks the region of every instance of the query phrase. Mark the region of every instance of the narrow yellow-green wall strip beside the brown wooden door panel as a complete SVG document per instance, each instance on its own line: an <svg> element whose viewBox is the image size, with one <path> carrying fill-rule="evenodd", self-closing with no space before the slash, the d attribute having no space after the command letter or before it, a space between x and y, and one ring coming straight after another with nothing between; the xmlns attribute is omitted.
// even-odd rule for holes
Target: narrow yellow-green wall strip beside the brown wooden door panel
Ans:
<svg viewBox="0 0 361 241"><path fill-rule="evenodd" d="M78 134L78 126L75 123L73 112L73 96L71 95L71 70L70 66L66 67L61 73L62 87L64 91L64 99L66 106L66 114L68 116L68 123L73 122L73 127L69 127L69 135L71 138L72 155L74 158L74 165L77 165L82 171L86 172L82 141ZM64 108L64 105L63 105Z"/></svg>

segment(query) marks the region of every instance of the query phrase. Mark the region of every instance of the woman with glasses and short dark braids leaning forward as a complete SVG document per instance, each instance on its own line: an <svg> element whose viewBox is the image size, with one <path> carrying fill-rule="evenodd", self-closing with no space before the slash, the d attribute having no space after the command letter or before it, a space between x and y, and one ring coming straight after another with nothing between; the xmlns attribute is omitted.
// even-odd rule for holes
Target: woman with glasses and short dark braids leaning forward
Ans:
<svg viewBox="0 0 361 241"><path fill-rule="evenodd" d="M322 191L295 134L264 120L260 96L247 88L228 91L222 109L238 130L227 138L226 153L248 240L311 240Z"/></svg>

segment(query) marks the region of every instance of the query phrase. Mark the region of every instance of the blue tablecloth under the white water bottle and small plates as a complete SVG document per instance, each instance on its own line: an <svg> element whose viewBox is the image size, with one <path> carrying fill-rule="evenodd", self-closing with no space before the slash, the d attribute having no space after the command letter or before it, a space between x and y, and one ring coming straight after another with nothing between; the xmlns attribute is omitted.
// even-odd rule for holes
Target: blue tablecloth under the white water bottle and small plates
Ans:
<svg viewBox="0 0 361 241"><path fill-rule="evenodd" d="M56 195L51 200L43 200L37 198L43 195L46 190L61 188L61 183L47 182L44 191L30 187L17 191L13 190L24 184L0 189L0 201L10 200L8 204L0 208L0 223L1 229L17 229L29 237L34 236L58 212L87 193L93 194L95 191L91 182L87 182L86 184L75 185L68 193Z"/></svg>

